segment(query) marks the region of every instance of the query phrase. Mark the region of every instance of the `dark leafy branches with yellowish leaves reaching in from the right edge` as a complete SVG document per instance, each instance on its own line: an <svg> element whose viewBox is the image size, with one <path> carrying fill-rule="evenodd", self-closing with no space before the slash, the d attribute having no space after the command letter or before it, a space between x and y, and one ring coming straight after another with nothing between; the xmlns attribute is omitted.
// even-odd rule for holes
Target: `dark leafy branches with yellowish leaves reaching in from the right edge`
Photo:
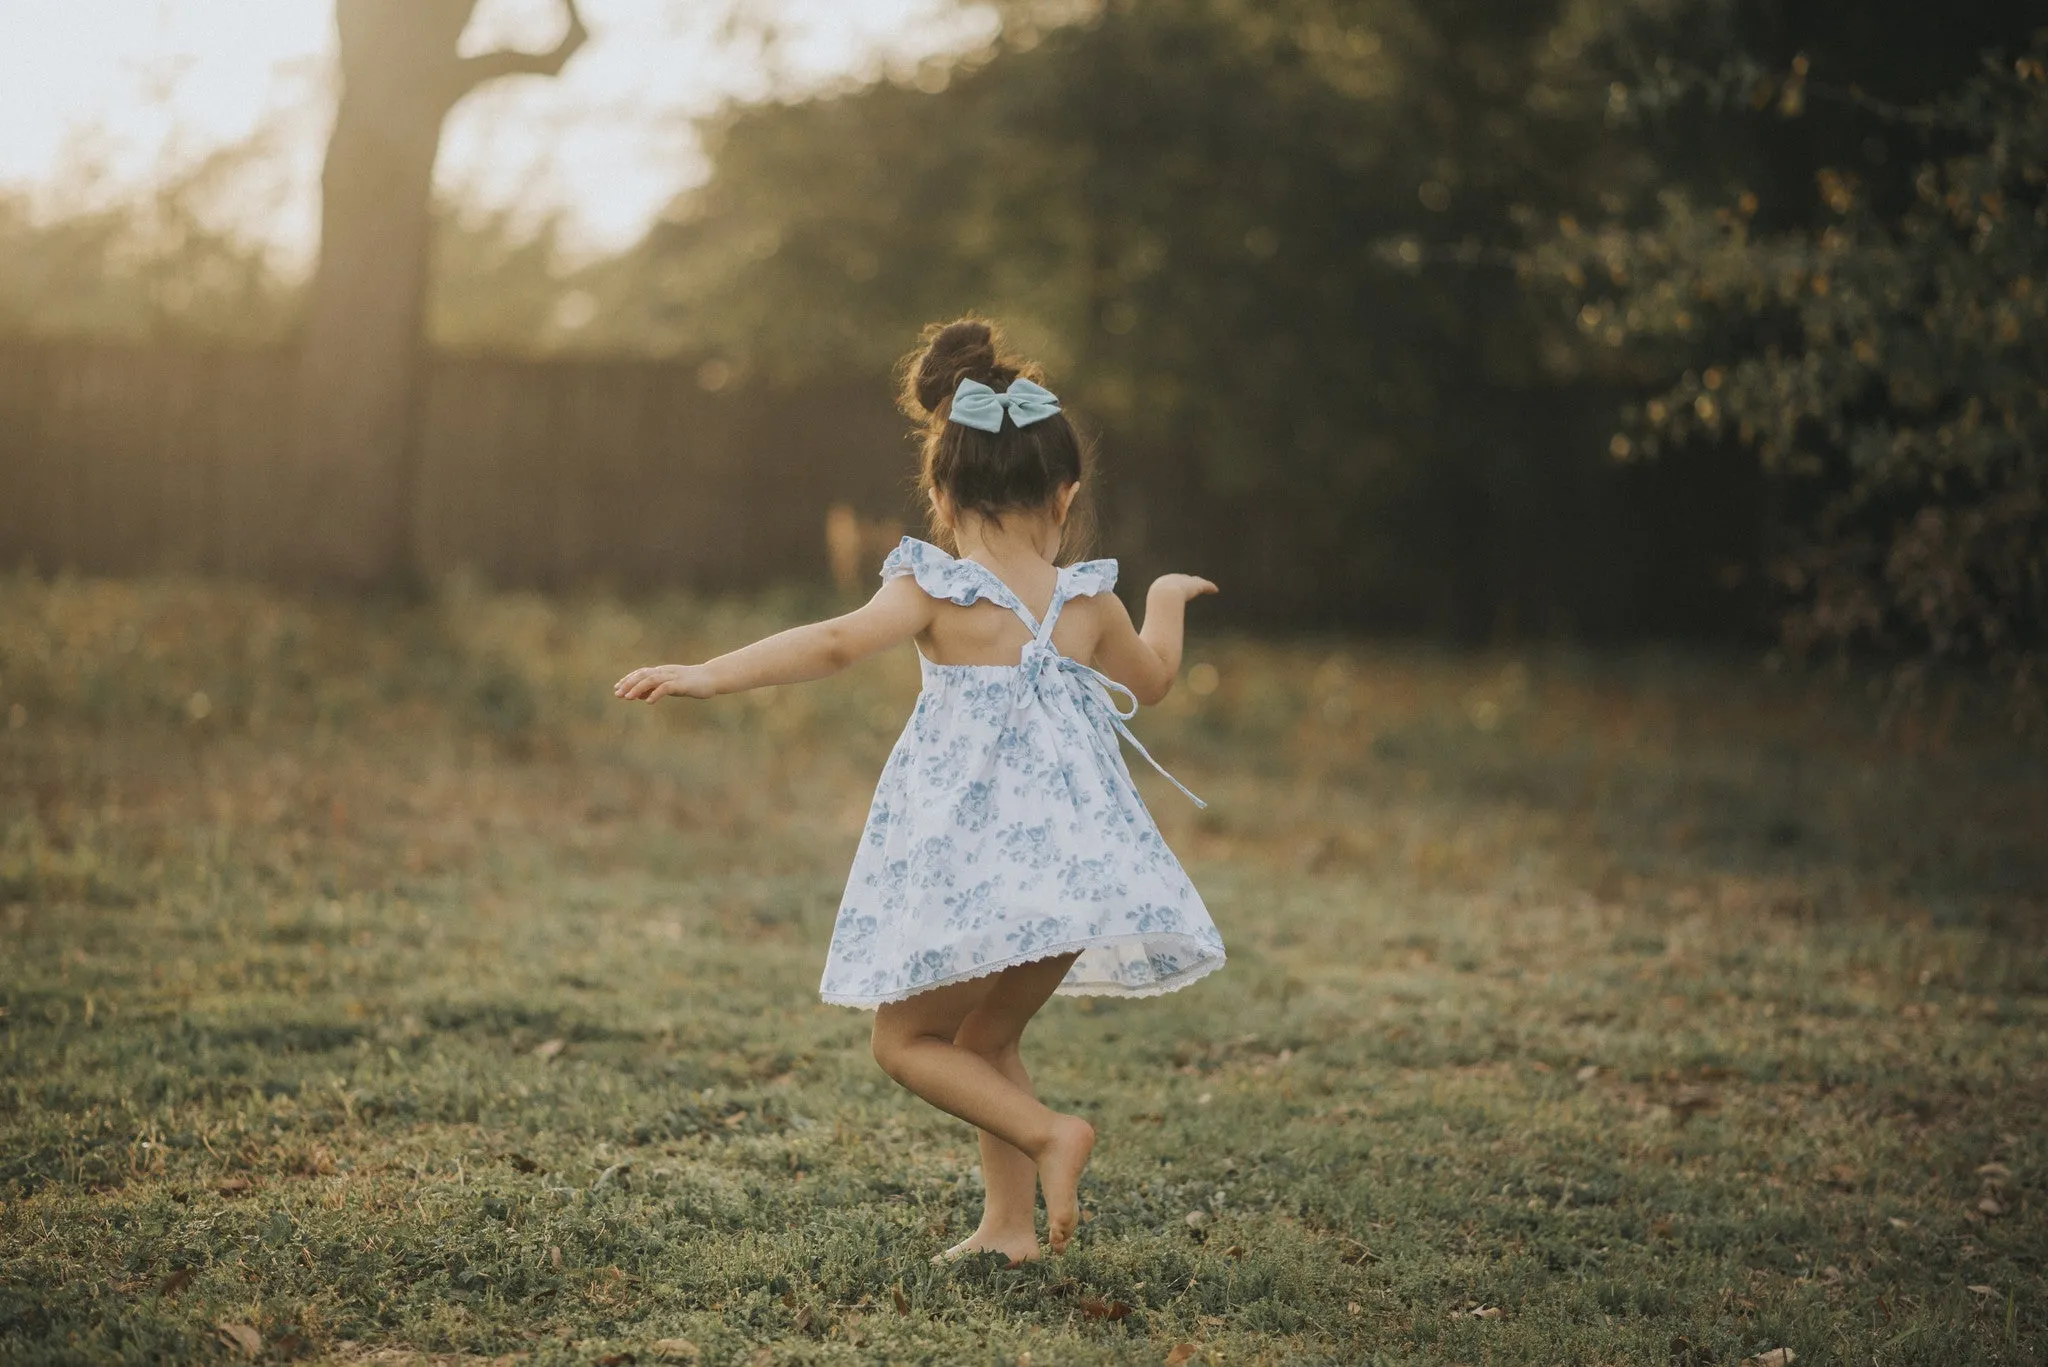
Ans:
<svg viewBox="0 0 2048 1367"><path fill-rule="evenodd" d="M1778 560L1798 648L1993 664L2038 713L2048 664L2048 35L1942 98L1849 94L1927 158L1892 203L1821 166L1810 225L1755 193L1671 191L1649 225L1565 230L1530 273L1587 338L1681 373L1630 410L1620 459L1690 441L1753 449L1788 486ZM1761 86L1806 109L1806 59ZM1878 143L1882 148L1882 143ZM1653 361L1653 369L1657 365Z"/></svg>

